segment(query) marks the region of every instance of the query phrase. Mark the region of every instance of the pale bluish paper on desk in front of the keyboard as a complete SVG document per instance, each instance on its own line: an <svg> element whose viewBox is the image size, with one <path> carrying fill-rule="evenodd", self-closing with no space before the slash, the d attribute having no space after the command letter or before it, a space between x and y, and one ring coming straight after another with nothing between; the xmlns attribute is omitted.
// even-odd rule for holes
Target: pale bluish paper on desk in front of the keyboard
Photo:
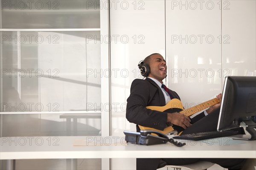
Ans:
<svg viewBox="0 0 256 170"><path fill-rule="evenodd" d="M242 140L236 140L232 139L230 137L221 137L221 138L213 138L213 139L205 139L201 142L204 142L208 145L223 145L223 146L229 146L230 144L245 144Z"/></svg>

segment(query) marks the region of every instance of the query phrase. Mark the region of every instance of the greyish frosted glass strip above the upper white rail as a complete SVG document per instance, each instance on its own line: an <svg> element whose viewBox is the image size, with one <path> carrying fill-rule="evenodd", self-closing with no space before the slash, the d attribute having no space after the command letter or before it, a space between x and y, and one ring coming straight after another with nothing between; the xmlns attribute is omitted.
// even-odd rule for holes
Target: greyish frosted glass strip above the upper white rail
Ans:
<svg viewBox="0 0 256 170"><path fill-rule="evenodd" d="M2 0L1 28L100 28L99 0Z"/></svg>

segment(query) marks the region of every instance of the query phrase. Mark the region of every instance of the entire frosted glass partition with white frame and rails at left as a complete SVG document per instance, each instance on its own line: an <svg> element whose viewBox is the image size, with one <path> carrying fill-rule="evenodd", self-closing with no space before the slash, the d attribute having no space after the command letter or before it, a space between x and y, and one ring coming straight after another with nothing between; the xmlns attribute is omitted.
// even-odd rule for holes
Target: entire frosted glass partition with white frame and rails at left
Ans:
<svg viewBox="0 0 256 170"><path fill-rule="evenodd" d="M100 34L108 32L107 6L105 0L0 0L0 137L49 136L58 144L58 136L106 135L109 111L101 103L108 102L109 83L100 71L109 66L108 44ZM19 160L16 168L110 167L104 161Z"/></svg>

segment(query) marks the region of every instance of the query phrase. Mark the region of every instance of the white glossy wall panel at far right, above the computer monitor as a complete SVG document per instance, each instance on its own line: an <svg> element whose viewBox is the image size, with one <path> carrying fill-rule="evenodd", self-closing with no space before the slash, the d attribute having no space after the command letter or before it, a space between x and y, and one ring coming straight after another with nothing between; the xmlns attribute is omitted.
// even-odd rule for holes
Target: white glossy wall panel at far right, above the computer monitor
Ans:
<svg viewBox="0 0 256 170"><path fill-rule="evenodd" d="M226 75L256 76L256 0L231 0L222 12L222 68Z"/></svg>

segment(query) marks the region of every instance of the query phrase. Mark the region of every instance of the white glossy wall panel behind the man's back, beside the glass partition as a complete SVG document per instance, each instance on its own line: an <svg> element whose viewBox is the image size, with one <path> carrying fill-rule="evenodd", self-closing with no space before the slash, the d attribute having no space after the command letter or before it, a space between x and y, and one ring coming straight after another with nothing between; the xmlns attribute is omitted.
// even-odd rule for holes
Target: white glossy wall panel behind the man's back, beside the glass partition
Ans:
<svg viewBox="0 0 256 170"><path fill-rule="evenodd" d="M138 63L149 54L165 54L165 8L163 0L110 2L111 125L113 136L123 136L123 130L136 131L125 109L131 82L142 79ZM112 169L136 169L136 159L112 159Z"/></svg>

